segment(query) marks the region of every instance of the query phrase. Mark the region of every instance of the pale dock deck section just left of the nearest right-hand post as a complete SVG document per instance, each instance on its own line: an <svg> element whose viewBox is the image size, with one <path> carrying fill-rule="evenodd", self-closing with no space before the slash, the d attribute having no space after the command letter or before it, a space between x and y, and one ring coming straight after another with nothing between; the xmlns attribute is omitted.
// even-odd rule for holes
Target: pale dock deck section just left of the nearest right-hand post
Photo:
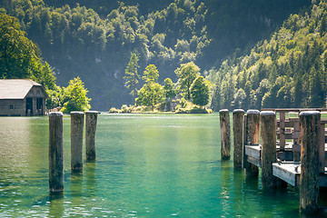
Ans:
<svg viewBox="0 0 327 218"><path fill-rule="evenodd" d="M295 171L297 168L297 172ZM272 174L282 181L291 184L292 186L299 186L301 167L300 164L294 163L272 163Z"/></svg>

